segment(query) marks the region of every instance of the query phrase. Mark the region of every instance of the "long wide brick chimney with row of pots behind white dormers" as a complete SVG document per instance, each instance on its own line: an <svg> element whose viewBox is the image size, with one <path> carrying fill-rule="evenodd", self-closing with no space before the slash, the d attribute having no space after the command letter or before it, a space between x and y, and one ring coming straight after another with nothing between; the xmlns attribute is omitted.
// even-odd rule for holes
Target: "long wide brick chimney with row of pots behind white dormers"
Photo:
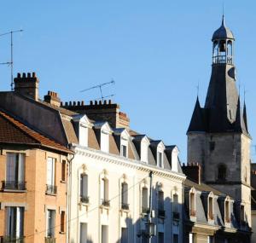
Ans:
<svg viewBox="0 0 256 243"><path fill-rule="evenodd" d="M130 119L125 113L119 111L119 105L109 101L90 101L85 105L84 101L69 101L62 104L62 107L76 113L86 114L89 119L96 121L108 121L113 128L130 127Z"/></svg>

